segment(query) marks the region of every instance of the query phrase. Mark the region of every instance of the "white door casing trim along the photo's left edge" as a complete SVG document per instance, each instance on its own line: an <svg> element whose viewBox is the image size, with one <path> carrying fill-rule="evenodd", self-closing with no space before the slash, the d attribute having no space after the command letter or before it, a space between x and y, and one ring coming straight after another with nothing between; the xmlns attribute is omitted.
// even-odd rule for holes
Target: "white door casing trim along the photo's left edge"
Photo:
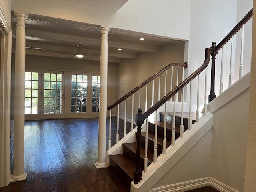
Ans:
<svg viewBox="0 0 256 192"><path fill-rule="evenodd" d="M10 97L12 29L0 6L0 187L10 183Z"/></svg>

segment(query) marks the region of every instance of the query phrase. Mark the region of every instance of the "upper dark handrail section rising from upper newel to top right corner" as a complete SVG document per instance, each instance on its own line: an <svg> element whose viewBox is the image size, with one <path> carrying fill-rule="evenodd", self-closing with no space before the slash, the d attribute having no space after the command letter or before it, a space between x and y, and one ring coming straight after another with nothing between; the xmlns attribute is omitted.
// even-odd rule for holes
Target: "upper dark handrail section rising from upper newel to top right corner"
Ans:
<svg viewBox="0 0 256 192"><path fill-rule="evenodd" d="M238 32L240 30L240 28L242 28L242 26L244 24L246 24L246 22L248 22L248 20L250 20L250 18L252 18L252 9L248 12L248 14L246 14L246 16L244 16L244 18L242 18L242 20L229 32L229 34L215 47L214 52L218 52L218 50L220 50L220 48L222 48L222 46L224 44L226 44L228 42L228 40L230 40L232 38L232 36L234 34L236 34L236 32Z"/></svg>

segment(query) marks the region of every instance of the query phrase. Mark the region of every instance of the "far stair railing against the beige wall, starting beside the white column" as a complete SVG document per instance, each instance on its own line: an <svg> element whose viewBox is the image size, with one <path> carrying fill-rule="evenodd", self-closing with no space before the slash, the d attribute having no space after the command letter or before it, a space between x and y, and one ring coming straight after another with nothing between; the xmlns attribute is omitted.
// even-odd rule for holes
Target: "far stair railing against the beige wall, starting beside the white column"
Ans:
<svg viewBox="0 0 256 192"><path fill-rule="evenodd" d="M109 116L109 132L108 132L108 150L110 150L110 148L119 142L120 138L124 138L126 136L126 132L128 132L129 130L127 130L126 128L126 121L127 121L127 107L130 107L130 131L133 130L134 128L134 115L136 114L136 111L134 112L134 110L136 110L136 107L134 108L134 101L138 102L138 107L141 108L142 104L141 104L141 98L142 98L142 91L145 92L144 98L145 98L145 104L143 104L145 106L145 112L147 110L147 106L148 104L151 104L151 106L154 105L154 103L156 102L156 97L154 97L154 90L158 91L158 97L157 97L157 101L160 100L160 98L162 98L163 96L166 95L166 90L168 90L168 88L170 88L170 90L172 90L173 84L175 84L175 81L173 80L173 77L176 77L176 85L178 85L178 80L179 80L179 68L182 68L182 74L184 73L184 68L187 68L188 64L187 63L171 63L168 66L166 66L165 68L163 68L162 70L160 70L159 72L157 72L156 74L154 74L153 76L151 76L150 78L148 78L146 81L144 81L142 84L140 84L139 86L137 86L136 88L134 88L133 90L131 90L130 92L128 92L126 95L122 96L122 98L120 98L119 100L117 100L114 104L110 105L107 107L107 110L110 111L110 116ZM164 74L164 78L161 79L161 75ZM177 74L177 75L176 75ZM167 78L170 77L170 82L167 81ZM157 83L158 80L158 83ZM161 82L164 82L164 89L160 89L161 88ZM148 98L150 98L148 92L150 91L150 87L152 86L152 96L151 96L151 100L149 101ZM142 90L143 89L143 90ZM164 90L164 92L162 92L161 90ZM162 97L161 97L162 95ZM138 97L136 97L138 96ZM137 99L134 99L134 97L136 97ZM121 106L121 107L120 107ZM120 116L120 108L124 109L124 111L122 112L122 117ZM116 130L114 130L114 126L111 125L112 123L112 112L113 109L116 109L116 117L117 117L117 122L116 122ZM124 128L123 130L119 130L119 120L120 118L124 119ZM116 135L114 136L112 132L116 132ZM120 135L120 133L123 132L123 134ZM112 134L112 136L111 136ZM115 141L114 141L115 140Z"/></svg>

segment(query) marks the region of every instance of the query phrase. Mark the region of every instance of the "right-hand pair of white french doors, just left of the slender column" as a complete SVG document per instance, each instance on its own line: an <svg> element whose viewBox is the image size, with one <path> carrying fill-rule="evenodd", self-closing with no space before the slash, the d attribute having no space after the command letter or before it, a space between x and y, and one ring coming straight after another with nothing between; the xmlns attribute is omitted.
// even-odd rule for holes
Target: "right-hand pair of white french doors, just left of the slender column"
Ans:
<svg viewBox="0 0 256 192"><path fill-rule="evenodd" d="M67 72L66 80L65 118L98 117L99 74Z"/></svg>

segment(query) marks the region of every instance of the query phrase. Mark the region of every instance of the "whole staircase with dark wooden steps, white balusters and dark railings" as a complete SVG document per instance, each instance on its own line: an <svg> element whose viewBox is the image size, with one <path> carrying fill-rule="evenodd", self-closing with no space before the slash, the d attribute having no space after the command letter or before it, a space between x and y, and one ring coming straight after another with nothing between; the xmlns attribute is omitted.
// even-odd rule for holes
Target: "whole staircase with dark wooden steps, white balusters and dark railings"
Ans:
<svg viewBox="0 0 256 192"><path fill-rule="evenodd" d="M213 112L219 107L226 104L227 98L240 94L241 92L234 91L237 90L236 87L232 88L233 82L233 69L232 62L230 62L230 74L228 75L229 81L225 82L228 89L223 90L223 60L221 61L221 74L220 74L220 91L219 96L215 94L215 57L218 51L222 49L223 46L238 32L240 28L243 28L244 24L252 17L252 10L231 30L231 32L216 45L216 42L212 42L210 48L205 49L205 60L202 66L200 66L195 72L190 74L186 79L184 79L184 68L187 67L187 63L178 64L172 63L166 66L164 69L160 70L154 76L148 78L145 82L134 88L128 94L120 98L111 106L107 107L110 116L110 125L108 133L108 151L106 153L106 159L108 166L113 172L120 178L121 182L127 186L132 192L144 192L150 191L154 185L164 177L164 175L172 168L174 165L183 157L185 154L196 145L196 143L203 138L203 136L212 129L214 122ZM243 33L242 33L243 42ZM241 43L243 44L243 43ZM241 48L242 49L242 48ZM241 51L242 55L242 51ZM211 60L211 77L207 76L206 68ZM241 56L243 57L243 56ZM176 87L172 88L173 70L174 66L177 67L177 73L179 74L179 67L182 68L182 82L176 80ZM210 68L210 67L209 67ZM171 70L171 83L169 85L166 82L166 77L168 75L167 70ZM248 74L244 76L243 74L243 63L239 66L239 80L238 83L243 79L247 79ZM205 72L204 72L205 71ZM201 72L204 72L201 74ZM165 76L164 76L165 73ZM160 76L164 76L165 82L162 86ZM204 80L200 80L199 75L204 75ZM178 76L178 75L177 75ZM195 79L195 80L194 80ZM228 79L228 78L226 78ZM158 85L154 84L154 80L158 81ZM192 80L195 84L192 86ZM196 83L197 81L197 83ZM148 90L148 84L152 84L152 89ZM218 83L218 80L216 80ZM249 84L249 83L248 83ZM154 86L157 88L154 89ZM164 95L161 94L164 90ZM170 87L170 92L166 91L166 88ZM246 87L247 88L247 87ZM202 90L201 90L202 89ZM210 89L210 95L208 95ZM142 91L141 91L142 90ZM158 101L154 100L154 90L158 90ZM184 92L186 90L186 95ZM230 90L230 91L229 91ZM141 92L145 95L141 96ZM156 92L156 91L155 91ZM236 94L237 92L237 94ZM192 94L193 93L193 94ZM136 94L138 97L136 97ZM152 94L152 101L148 100L148 95ZM180 95L179 95L180 94ZM224 96L224 95L227 95ZM177 96L177 98L176 98ZM217 97L218 96L218 97ZM141 98L144 98L141 100ZM180 98L180 100L179 100ZM186 98L186 99L184 99ZM222 98L222 99L218 99ZM173 100L173 102L169 102ZM207 102L209 101L209 103ZM221 102L220 102L221 100ZM130 102L129 102L130 101ZM214 102L217 101L217 102ZM128 102L128 103L127 103ZM135 105L135 102L136 105ZM141 103L144 103L141 106ZM170 104L171 103L171 104ZM214 104L213 104L214 103ZM147 106L151 107L148 108ZM202 106L203 110L199 108ZM131 107L131 108L130 108ZM173 107L173 110L172 110ZM121 110L122 112L120 112ZM129 109L128 109L129 108ZM138 109L139 108L139 109ZM136 114L136 109L138 113ZM142 109L145 111L142 113ZM127 111L131 112L127 116ZM168 113L162 113L162 111L169 111ZM173 111L174 113L170 112ZM180 111L180 112L176 112ZM184 112L189 111L189 112ZM200 114L203 111L204 114ZM194 113L193 113L194 112ZM112 113L117 117L117 127L114 133L111 132L111 116ZM129 122L137 124L137 128L130 130L126 135L126 124L124 124L124 136L119 138L119 116L124 118L126 122L127 118L130 118ZM175 114L175 118L174 115ZM190 115L191 114L191 115ZM155 122L152 122L151 117L155 116ZM202 117L200 117L202 116ZM172 126L173 119L175 119L175 126ZM158 121L160 120L160 121ZM196 122L196 123L195 123ZM167 123L165 126L164 124ZM194 124L193 124L194 123ZM193 126L192 126L193 124ZM166 131L165 131L166 128ZM184 134L180 133L183 130ZM155 134L156 132L156 134ZM166 133L166 134L165 134ZM112 144L112 135L116 135L116 144ZM135 142L136 138L138 144ZM209 141L209 140L207 140ZM136 146L137 144L137 146ZM145 152L146 150L146 152ZM200 149L199 149L200 150ZM137 157L137 159L136 159ZM140 157L140 160L138 160ZM189 166L189 165L188 165ZM144 169L144 170L143 170ZM143 172L142 172L143 171ZM175 177L175 176L174 176ZM169 183L168 180L164 180L165 183ZM179 182L179 180L177 180ZM185 189L194 188L194 180L186 181L186 186L184 183L172 184L168 186L172 191L184 191ZM215 181L214 181L215 182ZM222 184L215 182L214 184L218 188L222 188ZM204 182L204 186L212 184L212 180L207 179ZM196 185L200 186L196 183ZM228 188L228 187L227 187ZM155 190L154 188L152 189Z"/></svg>

